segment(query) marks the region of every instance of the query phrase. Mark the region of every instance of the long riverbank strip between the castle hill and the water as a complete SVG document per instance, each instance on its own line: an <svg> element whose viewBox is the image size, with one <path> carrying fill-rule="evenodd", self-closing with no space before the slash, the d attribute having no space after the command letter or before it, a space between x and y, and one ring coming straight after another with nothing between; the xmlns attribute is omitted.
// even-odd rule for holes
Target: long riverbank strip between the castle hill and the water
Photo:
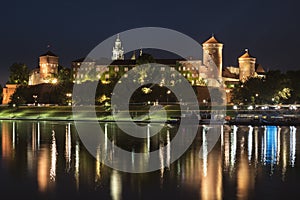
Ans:
<svg viewBox="0 0 300 200"><path fill-rule="evenodd" d="M95 106L95 117L90 117L90 109L81 109L76 113L76 121L99 121L99 122L115 122L115 118L111 115L111 111L104 106ZM167 118L163 112L166 111ZM281 125L281 126L300 126L300 115L294 113L283 114L281 111L226 111L225 121L213 121L206 118L209 110L201 110L201 119L199 124L228 124L228 125ZM241 114L242 113L242 114ZM278 114L279 113L279 114ZM275 115L276 114L276 115ZM289 114L289 115L287 115ZM180 122L181 113L179 107L166 105L163 109L156 110L149 114L149 106L136 106L130 110L131 118L125 112L116 113L118 122L136 122L136 123L169 123L178 124ZM242 116L242 117L241 117ZM275 118L274 118L275 116ZM281 116L282 118L279 118ZM287 117L288 116L288 117ZM151 119L151 120L150 120ZM35 121L74 121L71 106L20 106L20 107L0 107L0 120L35 120Z"/></svg>

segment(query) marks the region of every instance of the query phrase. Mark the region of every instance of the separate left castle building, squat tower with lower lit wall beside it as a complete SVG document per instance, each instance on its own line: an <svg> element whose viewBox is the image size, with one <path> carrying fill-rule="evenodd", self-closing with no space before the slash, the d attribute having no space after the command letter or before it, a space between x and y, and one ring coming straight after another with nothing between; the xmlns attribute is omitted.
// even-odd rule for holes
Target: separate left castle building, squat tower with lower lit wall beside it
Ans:
<svg viewBox="0 0 300 200"><path fill-rule="evenodd" d="M42 83L56 83L58 75L57 55L48 51L39 56L39 67L32 70L29 74L29 85L38 85Z"/></svg>

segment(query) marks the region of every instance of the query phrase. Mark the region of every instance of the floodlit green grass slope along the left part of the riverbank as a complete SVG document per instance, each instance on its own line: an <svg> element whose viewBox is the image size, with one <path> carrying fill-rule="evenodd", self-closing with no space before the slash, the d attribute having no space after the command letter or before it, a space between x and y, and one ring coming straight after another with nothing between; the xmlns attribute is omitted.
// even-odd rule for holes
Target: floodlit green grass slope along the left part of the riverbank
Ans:
<svg viewBox="0 0 300 200"><path fill-rule="evenodd" d="M172 106L165 106L167 116L180 116L180 111ZM148 106L139 106L133 108L130 112L133 121L135 122L151 122L164 123L163 110L157 110L149 115ZM82 109L76 113L76 120L81 121L103 121L113 122L114 117L111 111L104 106L95 106L95 117L89 117L90 109ZM125 112L116 113L118 121L129 122ZM0 120L40 120L40 121L73 121L73 111L71 106L20 106L20 107L0 107ZM167 117L167 122L174 122L171 117Z"/></svg>

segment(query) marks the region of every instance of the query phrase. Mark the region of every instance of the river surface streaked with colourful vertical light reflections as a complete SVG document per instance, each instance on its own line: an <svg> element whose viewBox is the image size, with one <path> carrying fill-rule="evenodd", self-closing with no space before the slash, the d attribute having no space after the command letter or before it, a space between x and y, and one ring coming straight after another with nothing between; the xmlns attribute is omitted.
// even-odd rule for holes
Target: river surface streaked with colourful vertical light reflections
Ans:
<svg viewBox="0 0 300 200"><path fill-rule="evenodd" d="M0 172L8 174L12 181L6 183L7 187L15 181L22 182L25 174L31 189L38 188L37 194L59 196L57 191L64 188L73 191L73 197L79 195L77 191L116 200L150 199L154 194L177 199L249 199L261 197L264 190L276 193L274 187L278 184L293 186L300 181L299 129L294 126L199 127L189 150L171 164L170 145L176 127L166 126L157 136L150 137L148 126L145 141L137 144L124 138L114 124L102 124L107 139L105 152L97 149L97 161L81 144L72 123L2 121L0 125ZM222 130L212 151L208 149L208 128ZM111 145L129 145L132 152L159 149L161 169L128 174L104 166L100 160L114 159L108 139L113 141ZM132 154L129 162L143 166L148 161L149 157L136 160ZM21 173L16 174L14 169ZM279 198L276 194L274 197Z"/></svg>

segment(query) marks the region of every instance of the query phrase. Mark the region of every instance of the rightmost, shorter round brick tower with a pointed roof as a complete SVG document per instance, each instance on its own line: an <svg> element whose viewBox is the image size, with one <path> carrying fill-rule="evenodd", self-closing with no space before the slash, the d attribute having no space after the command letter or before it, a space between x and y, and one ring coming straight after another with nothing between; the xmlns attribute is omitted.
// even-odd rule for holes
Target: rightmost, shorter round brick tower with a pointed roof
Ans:
<svg viewBox="0 0 300 200"><path fill-rule="evenodd" d="M251 57L248 49L245 53L239 57L239 68L240 68L240 81L244 83L248 78L255 76L255 62L256 58Z"/></svg>

